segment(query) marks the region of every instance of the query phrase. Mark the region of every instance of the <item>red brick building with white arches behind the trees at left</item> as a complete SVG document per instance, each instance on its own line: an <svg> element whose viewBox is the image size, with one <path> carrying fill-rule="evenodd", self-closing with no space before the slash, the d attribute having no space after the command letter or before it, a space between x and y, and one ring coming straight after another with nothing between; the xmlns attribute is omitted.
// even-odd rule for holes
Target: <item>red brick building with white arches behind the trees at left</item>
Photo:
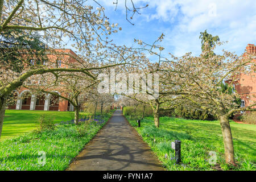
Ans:
<svg viewBox="0 0 256 182"><path fill-rule="evenodd" d="M56 52L64 52L76 56L76 53L71 49L55 49ZM49 54L47 55L49 59L56 61L58 58L56 55ZM31 60L34 61L34 60ZM59 68L67 68L68 64L65 63L74 63L76 60L69 55L64 55L61 60L57 60ZM51 92L57 92L51 90ZM57 96L51 96L51 94L43 94L42 96L36 96L35 94L29 94L30 90L27 88L21 87L19 90L16 90L16 104L9 105L8 109L16 110L58 110L58 111L73 111L72 104L67 100L63 100ZM24 94L28 94L27 97L23 97ZM59 93L61 95L68 93ZM64 95L63 95L64 96Z"/></svg>

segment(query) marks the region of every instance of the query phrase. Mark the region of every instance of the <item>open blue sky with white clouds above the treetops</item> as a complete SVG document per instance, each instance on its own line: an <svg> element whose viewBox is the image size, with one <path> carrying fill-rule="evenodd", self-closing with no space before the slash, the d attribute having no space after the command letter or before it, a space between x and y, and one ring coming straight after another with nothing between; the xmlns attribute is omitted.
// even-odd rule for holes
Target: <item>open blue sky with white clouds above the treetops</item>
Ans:
<svg viewBox="0 0 256 182"><path fill-rule="evenodd" d="M192 52L199 55L201 51L200 32L205 29L220 40L228 41L222 49L241 55L247 44L256 44L256 1L255 0L134 0L142 9L141 15L136 14L127 22L124 0L100 0L105 7L105 14L110 23L118 23L122 31L112 36L118 45L133 46L135 39L147 43L154 42L162 33L165 35L162 46L165 53L175 56ZM128 1L128 0L127 0Z"/></svg>

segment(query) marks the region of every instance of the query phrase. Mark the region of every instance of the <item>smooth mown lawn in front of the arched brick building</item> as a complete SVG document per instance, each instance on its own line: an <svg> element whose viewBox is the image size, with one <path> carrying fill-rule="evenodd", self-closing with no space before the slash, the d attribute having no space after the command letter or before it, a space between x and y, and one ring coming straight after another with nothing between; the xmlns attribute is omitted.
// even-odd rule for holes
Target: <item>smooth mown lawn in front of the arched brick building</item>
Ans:
<svg viewBox="0 0 256 182"><path fill-rule="evenodd" d="M55 123L69 121L73 112L43 110L6 110L3 121L1 141L24 134L36 128L36 121L41 114L52 117Z"/></svg>

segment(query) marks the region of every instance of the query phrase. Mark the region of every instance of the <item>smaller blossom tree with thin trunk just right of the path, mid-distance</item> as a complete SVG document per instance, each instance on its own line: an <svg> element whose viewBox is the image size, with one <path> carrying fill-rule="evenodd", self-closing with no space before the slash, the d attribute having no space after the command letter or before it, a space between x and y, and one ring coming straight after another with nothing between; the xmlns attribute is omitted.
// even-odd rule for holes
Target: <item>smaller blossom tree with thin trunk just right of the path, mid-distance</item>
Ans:
<svg viewBox="0 0 256 182"><path fill-rule="evenodd" d="M179 102L180 96L177 97L175 95L178 93L181 95L186 94L183 92L183 88L177 86L175 77L172 77L172 72L175 71L170 69L172 68L171 62L162 56L164 48L157 45L157 43L162 42L163 38L164 35L162 34L153 44L147 44L142 42L142 40L134 39L134 42L137 42L141 46L137 48L138 60L141 63L138 64L137 68L128 71L127 74L131 72L138 73L142 78L139 86L142 86L142 84L146 85L146 90L144 90L144 93L123 93L124 96L151 107L154 114L155 127L159 127L160 125L160 112L172 110L181 104ZM151 59L146 55L151 55ZM152 81L153 84L149 84L148 80ZM155 82L155 80L159 81ZM129 85L129 80L126 81ZM129 89L136 90L137 86L135 84L129 85Z"/></svg>

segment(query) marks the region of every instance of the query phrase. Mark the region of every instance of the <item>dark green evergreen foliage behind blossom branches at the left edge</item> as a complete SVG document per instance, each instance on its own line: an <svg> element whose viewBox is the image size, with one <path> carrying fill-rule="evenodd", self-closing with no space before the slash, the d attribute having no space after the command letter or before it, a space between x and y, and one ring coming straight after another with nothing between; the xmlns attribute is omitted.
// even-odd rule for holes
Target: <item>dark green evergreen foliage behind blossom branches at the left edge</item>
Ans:
<svg viewBox="0 0 256 182"><path fill-rule="evenodd" d="M6 69L21 72L24 63L28 63L31 59L36 59L36 64L40 65L47 60L44 56L46 46L40 40L40 35L23 30L6 30L0 33L0 40L0 55L2 55L0 63L5 65Z"/></svg>

